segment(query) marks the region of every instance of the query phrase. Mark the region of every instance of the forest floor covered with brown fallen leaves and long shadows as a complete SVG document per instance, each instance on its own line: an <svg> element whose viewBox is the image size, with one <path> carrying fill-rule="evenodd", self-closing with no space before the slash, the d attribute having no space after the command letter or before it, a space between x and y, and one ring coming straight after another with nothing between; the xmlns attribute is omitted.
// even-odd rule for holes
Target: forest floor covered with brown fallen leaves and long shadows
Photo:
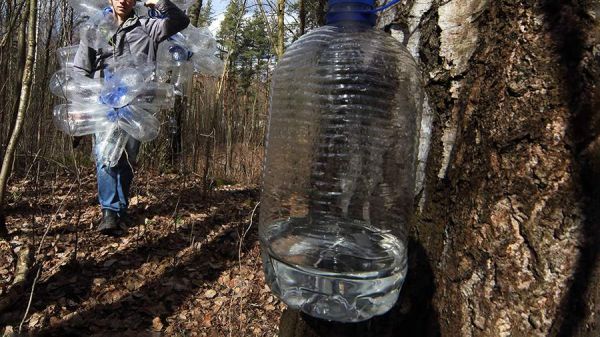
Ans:
<svg viewBox="0 0 600 337"><path fill-rule="evenodd" d="M23 334L35 336L277 335L285 305L264 281L256 186L203 196L199 178L140 172L135 225L120 238L95 231L92 169L22 179L9 194L13 239L0 244L0 297L14 277L11 250L28 245L41 269L0 313L0 333L23 322Z"/></svg>

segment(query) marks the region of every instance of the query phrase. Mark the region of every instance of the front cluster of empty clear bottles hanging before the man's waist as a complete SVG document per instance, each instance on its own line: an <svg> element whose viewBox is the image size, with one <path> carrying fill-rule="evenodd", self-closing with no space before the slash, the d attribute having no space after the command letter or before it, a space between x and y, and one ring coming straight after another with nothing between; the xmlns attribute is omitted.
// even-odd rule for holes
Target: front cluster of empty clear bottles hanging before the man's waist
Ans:
<svg viewBox="0 0 600 337"><path fill-rule="evenodd" d="M158 136L156 115L173 105L173 86L152 82L153 64L125 60L104 70L104 78L91 79L72 67L74 47L58 51L66 67L50 79L50 91L68 102L54 107L54 124L71 136L96 134L96 151L102 164L115 166L129 137L150 141Z"/></svg>

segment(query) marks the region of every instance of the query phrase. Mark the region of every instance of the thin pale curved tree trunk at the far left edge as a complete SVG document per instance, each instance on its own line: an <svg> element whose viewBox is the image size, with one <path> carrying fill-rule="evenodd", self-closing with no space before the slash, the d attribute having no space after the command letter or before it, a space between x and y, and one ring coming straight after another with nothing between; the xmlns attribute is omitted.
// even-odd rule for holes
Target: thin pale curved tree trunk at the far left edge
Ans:
<svg viewBox="0 0 600 337"><path fill-rule="evenodd" d="M0 225L4 227L4 203L8 177L12 168L12 160L17 149L17 143L21 136L25 111L29 104L29 94L31 90L31 81L33 76L33 67L35 62L35 47L36 47L36 22L37 22L37 1L29 1L29 19L27 32L27 58L23 68L23 82L21 86L21 95L19 97L19 109L15 126L12 131L6 152L2 161L2 169L0 170ZM6 234L6 228L0 228L0 234Z"/></svg>

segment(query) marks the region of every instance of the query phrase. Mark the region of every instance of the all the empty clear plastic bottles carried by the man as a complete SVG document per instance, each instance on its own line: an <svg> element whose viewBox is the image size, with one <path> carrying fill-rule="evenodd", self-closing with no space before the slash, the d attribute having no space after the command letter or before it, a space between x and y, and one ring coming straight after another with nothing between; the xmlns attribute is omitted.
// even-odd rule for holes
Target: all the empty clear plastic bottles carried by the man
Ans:
<svg viewBox="0 0 600 337"><path fill-rule="evenodd" d="M171 0L187 9L193 0ZM76 16L83 19L81 44L107 48L118 23L106 0L69 0ZM138 14L148 11L139 2ZM161 17L159 12L148 15ZM104 78L91 79L75 72L78 46L58 50L61 69L50 80L53 94L66 99L54 108L54 124L72 136L96 134L96 151L102 164L119 161L129 137L150 141L157 137L156 115L173 106L174 93L182 95L194 71L218 75L223 63L215 54L216 41L206 28L191 27L160 44L158 64L122 60L104 69ZM171 84L166 84L169 82ZM174 90L175 88L175 90Z"/></svg>

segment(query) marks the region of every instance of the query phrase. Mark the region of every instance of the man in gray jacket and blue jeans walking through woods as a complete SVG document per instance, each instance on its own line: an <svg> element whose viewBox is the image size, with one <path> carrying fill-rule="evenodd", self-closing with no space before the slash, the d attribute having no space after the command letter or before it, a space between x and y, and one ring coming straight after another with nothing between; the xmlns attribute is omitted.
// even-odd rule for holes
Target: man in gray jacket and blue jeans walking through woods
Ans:
<svg viewBox="0 0 600 337"><path fill-rule="evenodd" d="M104 77L104 69L123 58L146 58L156 62L158 44L185 29L189 18L170 0L147 0L144 5L159 11L160 18L139 17L133 10L135 0L108 0L119 28L109 41L110 50L79 46L75 55L76 72L90 78ZM114 167L109 167L96 155L98 199L102 208L98 230L106 235L120 236L131 220L127 214L129 189L133 180L140 142L129 138L125 151Z"/></svg>

